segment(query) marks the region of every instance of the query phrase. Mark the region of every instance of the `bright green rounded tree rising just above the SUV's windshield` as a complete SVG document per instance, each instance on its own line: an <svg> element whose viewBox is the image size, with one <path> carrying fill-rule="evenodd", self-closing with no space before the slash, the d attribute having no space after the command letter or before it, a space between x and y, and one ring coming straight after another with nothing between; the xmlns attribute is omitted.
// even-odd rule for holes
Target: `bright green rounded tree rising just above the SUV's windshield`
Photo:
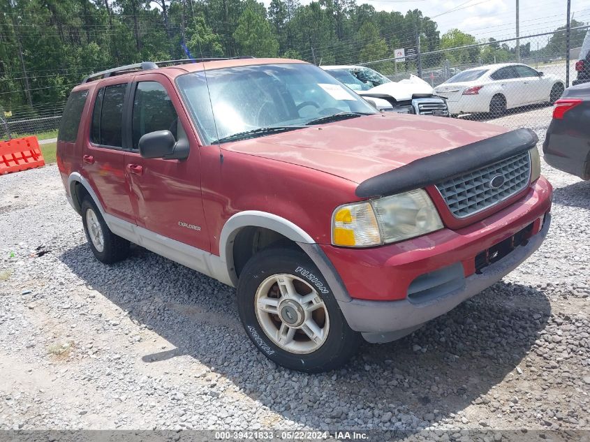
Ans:
<svg viewBox="0 0 590 442"><path fill-rule="evenodd" d="M233 34L239 53L253 57L276 57L279 53L279 42L272 34L266 17L251 4L246 6L237 20L237 28Z"/></svg>

